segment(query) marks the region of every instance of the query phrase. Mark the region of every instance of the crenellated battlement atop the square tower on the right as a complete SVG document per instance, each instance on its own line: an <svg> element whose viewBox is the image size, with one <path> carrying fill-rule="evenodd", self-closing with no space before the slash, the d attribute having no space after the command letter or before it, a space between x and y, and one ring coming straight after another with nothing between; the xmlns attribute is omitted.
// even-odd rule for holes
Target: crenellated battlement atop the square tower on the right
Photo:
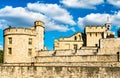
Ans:
<svg viewBox="0 0 120 78"><path fill-rule="evenodd" d="M85 32L103 32L106 30L105 26L86 26Z"/></svg>

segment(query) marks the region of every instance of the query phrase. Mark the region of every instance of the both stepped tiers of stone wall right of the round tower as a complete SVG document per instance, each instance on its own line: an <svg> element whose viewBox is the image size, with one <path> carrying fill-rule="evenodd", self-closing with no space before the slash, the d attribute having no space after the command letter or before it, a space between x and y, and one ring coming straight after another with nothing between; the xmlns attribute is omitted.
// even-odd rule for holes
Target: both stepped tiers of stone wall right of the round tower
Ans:
<svg viewBox="0 0 120 78"><path fill-rule="evenodd" d="M63 50L63 51L42 51L35 58L35 62L114 62L118 61L117 54L97 55L96 49L85 50Z"/></svg>

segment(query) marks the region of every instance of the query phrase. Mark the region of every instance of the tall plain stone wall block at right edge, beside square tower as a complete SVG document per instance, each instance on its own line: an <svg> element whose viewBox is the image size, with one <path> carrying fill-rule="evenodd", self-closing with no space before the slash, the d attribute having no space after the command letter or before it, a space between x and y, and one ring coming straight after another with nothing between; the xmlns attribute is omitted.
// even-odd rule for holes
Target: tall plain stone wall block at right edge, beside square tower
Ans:
<svg viewBox="0 0 120 78"><path fill-rule="evenodd" d="M98 54L117 54L120 52L120 38L106 38L100 40Z"/></svg>

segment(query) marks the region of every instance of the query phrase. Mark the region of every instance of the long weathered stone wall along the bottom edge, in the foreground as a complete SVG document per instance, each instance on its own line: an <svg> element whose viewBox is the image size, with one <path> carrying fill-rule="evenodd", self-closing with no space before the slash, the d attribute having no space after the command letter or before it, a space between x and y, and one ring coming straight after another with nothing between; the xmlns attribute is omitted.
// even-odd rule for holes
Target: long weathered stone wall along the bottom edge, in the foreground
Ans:
<svg viewBox="0 0 120 78"><path fill-rule="evenodd" d="M120 67L0 66L0 78L119 78Z"/></svg>

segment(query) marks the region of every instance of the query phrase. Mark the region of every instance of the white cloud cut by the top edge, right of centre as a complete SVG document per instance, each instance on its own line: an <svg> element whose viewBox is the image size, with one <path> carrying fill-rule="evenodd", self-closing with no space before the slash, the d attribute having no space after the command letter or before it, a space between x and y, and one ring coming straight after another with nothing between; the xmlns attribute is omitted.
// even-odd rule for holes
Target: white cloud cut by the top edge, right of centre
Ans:
<svg viewBox="0 0 120 78"><path fill-rule="evenodd" d="M102 4L104 0L61 0L67 7L95 9L96 5Z"/></svg>

